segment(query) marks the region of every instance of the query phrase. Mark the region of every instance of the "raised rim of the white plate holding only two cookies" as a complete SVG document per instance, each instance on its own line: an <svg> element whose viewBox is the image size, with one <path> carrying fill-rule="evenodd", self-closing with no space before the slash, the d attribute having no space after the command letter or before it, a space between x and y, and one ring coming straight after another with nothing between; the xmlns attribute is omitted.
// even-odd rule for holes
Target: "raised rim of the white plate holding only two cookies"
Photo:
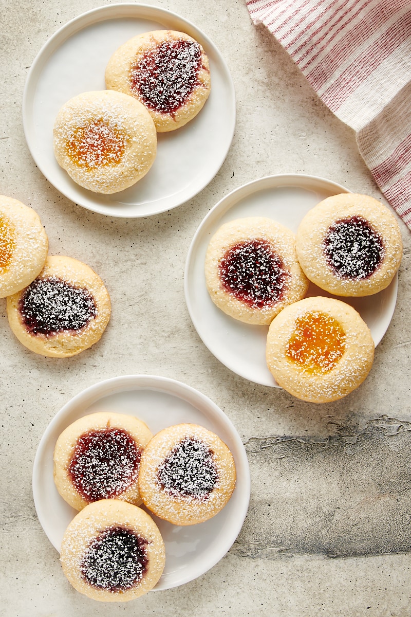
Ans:
<svg viewBox="0 0 411 617"><path fill-rule="evenodd" d="M124 14L121 14L121 15L116 14L118 11L124 12ZM139 15L139 12L141 11L144 13L142 17L140 17ZM132 15L126 15L126 13L128 12L130 12ZM96 16L99 16L100 19L96 19ZM202 39L203 41L206 41L206 45L209 46L209 48L213 50L214 54L216 54L216 57L218 57L218 62L221 65L221 68L224 72L224 82L226 83L226 86L230 91L229 105L227 105L227 109L230 109L229 115L231 118L230 130L229 130L229 133L227 133L227 135L229 135L229 138L227 139L227 143L224 144L224 147L221 149L220 157L216 157L216 165L214 165L214 167L212 168L210 175L207 176L205 181L201 181L198 185L196 185L194 189L191 189L190 191L187 191L187 189L182 189L178 193L174 193L174 196L181 194L181 197L177 199L174 205L164 205L163 204L157 207L157 209L155 210L150 210L150 212L139 212L138 209L137 209L137 212L134 212L134 211L133 212L128 212L128 211L119 212L118 209L116 211L116 205L107 204L106 206L104 202L100 204L96 204L96 207L93 207L93 205L88 204L88 202L81 203L82 200L77 199L77 197L81 197L80 195L73 196L72 194L70 194L70 191L67 191L64 188L62 189L60 187L55 186L55 184L52 183L51 180L49 180L47 170L45 169L45 166L43 165L41 158L38 156L38 151L35 147L35 144L33 144L33 140L30 138L30 132L33 132L34 125L35 125L35 118L33 114L33 102L34 102L35 90L38 85L39 77L41 76L44 66L46 66L47 62L52 57L52 55L55 53L55 51L57 51L57 49L59 49L60 46L62 46L62 44L64 44L65 41L67 41L71 36L75 35L81 30L84 30L84 28L87 28L94 23L103 22L107 20L124 19L125 17L132 17L133 19L139 19L140 17L140 19L152 19L152 20L155 20L156 17L163 17L163 19L165 20L167 20L167 18L174 19L184 24L184 27L187 30L192 31L193 33L192 36L194 38L198 38L198 39ZM190 199L193 199L193 197L195 197L198 193L200 193L203 189L205 189L206 186L208 186L208 184L210 184L213 178L218 174L219 170L224 164L224 161L227 158L227 154L229 152L229 149L232 144L232 140L234 138L235 123L236 123L235 87L234 87L234 81L232 79L228 64L226 60L224 59L224 57L222 56L221 52L219 51L218 47L210 39L210 37L206 35L203 32L203 30L198 28L193 22L191 22L188 19L185 19L185 17L182 17L181 15L173 12L172 10L163 9L163 7L151 6L150 4L144 4L140 2L136 4L133 4L131 2L117 2L115 4L106 4L106 5L102 5L99 7L94 7L94 9L90 9L90 10L83 12L80 15L76 15L76 17L73 17L72 19L68 20L68 22L61 25L44 42L43 46L39 49L38 53L36 54L35 59L33 59L33 62L31 62L30 69L28 70L28 73L26 76L25 85L23 88L23 97L22 97L22 119L23 119L23 133L25 136L26 145L30 152L31 158L33 159L33 162L35 162L36 167L38 167L39 171L42 173L44 178L46 178L46 180L51 184L51 186L53 186L59 193L67 197L67 199L70 199L71 202L80 205L81 207L83 207L86 210L89 210L90 212L95 212L97 214L101 214L104 216L117 217L117 218L145 218L145 217L155 216L163 212L168 212L169 210L173 210L179 205L182 205L185 202L190 201ZM82 189L82 190L85 191L86 189ZM92 193L92 191L89 191L89 192L87 191L87 194L90 194L91 197L99 196L98 193ZM96 197L96 201L97 201L97 197ZM160 200L156 199L152 201L146 201L145 204L152 204L153 201L158 202ZM163 200L161 200L161 202L162 201ZM130 204L130 205L136 206L138 204ZM139 204L139 205L141 206L144 204ZM105 210L107 210L107 212Z"/></svg>

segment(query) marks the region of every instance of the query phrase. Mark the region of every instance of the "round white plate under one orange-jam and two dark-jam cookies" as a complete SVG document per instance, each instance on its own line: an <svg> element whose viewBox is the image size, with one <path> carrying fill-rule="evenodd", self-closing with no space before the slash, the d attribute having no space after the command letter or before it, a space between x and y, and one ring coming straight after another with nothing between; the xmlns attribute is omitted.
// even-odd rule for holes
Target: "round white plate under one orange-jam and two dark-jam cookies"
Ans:
<svg viewBox="0 0 411 617"><path fill-rule="evenodd" d="M278 387L266 365L268 326L237 321L218 309L210 299L205 284L204 261L211 236L223 223L243 217L274 218L296 233L299 222L314 205L331 195L350 192L340 184L314 176L267 176L232 191L210 210L199 226L185 264L185 300L193 325L206 347L237 375L262 386ZM313 284L307 295L332 297ZM377 345L393 317L397 276L387 289L374 296L340 299L360 313Z"/></svg>

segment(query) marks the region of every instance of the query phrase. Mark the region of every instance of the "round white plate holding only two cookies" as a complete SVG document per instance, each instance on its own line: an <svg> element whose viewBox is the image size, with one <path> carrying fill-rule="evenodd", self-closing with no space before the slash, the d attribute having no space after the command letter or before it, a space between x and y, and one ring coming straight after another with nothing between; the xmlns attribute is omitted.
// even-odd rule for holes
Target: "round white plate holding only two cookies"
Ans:
<svg viewBox="0 0 411 617"><path fill-rule="evenodd" d="M137 184L113 195L81 188L54 157L57 112L76 94L105 89L105 67L121 44L139 33L166 29L184 31L205 49L211 73L208 101L187 125L158 133L155 162ZM182 17L145 4L111 4L68 22L39 52L23 94L24 132L38 168L71 201L110 217L147 217L191 199L224 162L234 125L234 85L216 46Z"/></svg>

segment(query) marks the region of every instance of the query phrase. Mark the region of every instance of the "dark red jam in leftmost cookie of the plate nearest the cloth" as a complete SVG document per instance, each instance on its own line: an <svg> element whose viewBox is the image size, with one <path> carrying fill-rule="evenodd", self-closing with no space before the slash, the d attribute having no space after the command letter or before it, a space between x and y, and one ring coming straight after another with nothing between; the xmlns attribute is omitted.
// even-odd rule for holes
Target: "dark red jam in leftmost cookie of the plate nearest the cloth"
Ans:
<svg viewBox="0 0 411 617"><path fill-rule="evenodd" d="M280 302L288 276L282 259L264 239L238 242L219 262L223 288L253 309Z"/></svg>

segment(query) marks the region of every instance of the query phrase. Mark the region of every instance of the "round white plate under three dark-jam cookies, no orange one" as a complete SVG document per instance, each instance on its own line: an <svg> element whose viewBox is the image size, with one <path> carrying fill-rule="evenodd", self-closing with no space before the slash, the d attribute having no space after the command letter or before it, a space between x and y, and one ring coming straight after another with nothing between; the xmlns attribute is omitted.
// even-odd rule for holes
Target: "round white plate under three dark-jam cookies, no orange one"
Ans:
<svg viewBox="0 0 411 617"><path fill-rule="evenodd" d="M137 416L145 421L153 434L173 424L200 424L218 434L231 450L237 483L231 499L218 515L205 523L186 527L153 516L166 545L166 566L155 589L170 589L192 581L224 557L245 520L250 502L250 468L240 436L216 404L192 387L173 379L126 375L101 381L76 395L49 424L39 443L33 466L37 515L44 532L59 552L65 529L76 511L55 488L55 442L69 424L97 411Z"/></svg>

